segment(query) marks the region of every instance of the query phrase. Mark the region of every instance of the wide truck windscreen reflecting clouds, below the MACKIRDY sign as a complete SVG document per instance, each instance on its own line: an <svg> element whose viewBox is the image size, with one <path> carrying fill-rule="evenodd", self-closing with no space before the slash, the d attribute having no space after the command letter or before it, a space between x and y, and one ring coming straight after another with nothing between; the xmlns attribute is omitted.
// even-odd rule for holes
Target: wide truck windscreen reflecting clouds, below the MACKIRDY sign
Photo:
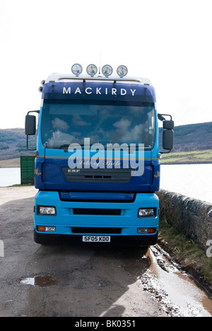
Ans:
<svg viewBox="0 0 212 331"><path fill-rule="evenodd" d="M60 149L70 144L143 144L155 141L154 103L93 100L46 100L42 111L42 144Z"/></svg>

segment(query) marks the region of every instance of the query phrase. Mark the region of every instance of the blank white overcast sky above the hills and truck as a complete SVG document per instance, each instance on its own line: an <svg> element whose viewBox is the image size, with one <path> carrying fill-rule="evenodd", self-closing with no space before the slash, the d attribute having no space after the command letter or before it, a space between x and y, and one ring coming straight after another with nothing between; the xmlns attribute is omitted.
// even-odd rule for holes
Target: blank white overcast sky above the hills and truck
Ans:
<svg viewBox="0 0 212 331"><path fill-rule="evenodd" d="M24 127L40 81L125 64L175 125L212 122L211 0L0 0L0 128Z"/></svg>

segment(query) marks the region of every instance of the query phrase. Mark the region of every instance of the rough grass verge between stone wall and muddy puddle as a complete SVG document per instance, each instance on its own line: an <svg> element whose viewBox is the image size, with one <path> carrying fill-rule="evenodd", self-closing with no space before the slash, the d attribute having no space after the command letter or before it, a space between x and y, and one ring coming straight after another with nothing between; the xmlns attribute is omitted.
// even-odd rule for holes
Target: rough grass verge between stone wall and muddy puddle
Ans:
<svg viewBox="0 0 212 331"><path fill-rule="evenodd" d="M160 219L158 243L212 295L212 257Z"/></svg>

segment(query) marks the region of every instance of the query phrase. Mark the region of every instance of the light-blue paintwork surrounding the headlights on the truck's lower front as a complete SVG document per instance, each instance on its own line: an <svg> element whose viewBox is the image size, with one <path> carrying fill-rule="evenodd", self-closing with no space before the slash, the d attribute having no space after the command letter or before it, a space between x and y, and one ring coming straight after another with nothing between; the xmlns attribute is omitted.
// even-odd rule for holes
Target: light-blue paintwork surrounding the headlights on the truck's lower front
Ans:
<svg viewBox="0 0 212 331"><path fill-rule="evenodd" d="M57 216L37 216L35 209L35 228L38 225L56 226L56 234L71 235L71 226L121 227L122 233L119 236L135 236L138 227L155 227L155 233L158 231L159 202L158 197L153 193L138 193L132 203L62 202L59 199L59 192L40 191L36 194L35 204L57 206ZM122 212L120 216L73 215L73 208L82 208L82 206L85 209L122 209ZM137 217L140 207L156 207L157 216L146 219Z"/></svg>

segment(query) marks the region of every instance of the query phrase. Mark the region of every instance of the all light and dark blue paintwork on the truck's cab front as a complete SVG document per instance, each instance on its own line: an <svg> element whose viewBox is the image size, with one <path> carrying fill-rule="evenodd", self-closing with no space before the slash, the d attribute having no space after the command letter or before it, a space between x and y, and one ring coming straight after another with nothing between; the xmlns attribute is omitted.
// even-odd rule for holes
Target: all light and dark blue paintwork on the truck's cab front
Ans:
<svg viewBox="0 0 212 331"><path fill-rule="evenodd" d="M74 93L76 86L81 93ZM47 83L42 91L42 98L86 98L94 100L112 100L112 87L117 88L116 100L134 100L155 103L155 91L152 86L139 86L130 84L114 83ZM62 93L63 88L72 93ZM96 94L96 88L100 93ZM92 92L86 94L87 91ZM107 88L107 90L106 90ZM121 95L121 89L126 90L126 95ZM134 96L130 90L135 90ZM79 91L79 90L78 90ZM104 92L104 91L107 91ZM42 107L40 108L40 118L42 117ZM38 124L37 130L37 151L35 159L35 187L40 191L35 197L35 231L37 225L56 226L57 234L71 235L71 226L84 227L121 227L122 233L116 236L151 236L138 234L138 227L155 227L158 231L158 197L154 193L160 186L160 161L159 152L159 132L158 117L155 110L155 146L151 151L145 151L144 173L140 177L131 177L126 183L84 183L67 182L62 173L61 167L68 166L71 152L57 149L45 149L41 141L41 126ZM104 156L102 156L103 158ZM135 154L135 158L137 155ZM64 191L64 192L61 192ZM61 199L60 199L61 194ZM97 202L97 200L104 202ZM71 201L64 201L71 200ZM85 200L79 202L77 200ZM87 201L86 201L87 200ZM108 202L107 202L108 200ZM114 202L111 202L113 200ZM57 216L38 216L37 205L57 207ZM139 208L155 207L157 214L153 218L139 218ZM85 209L121 209L120 216L100 216L100 215L73 215L73 208ZM81 233L78 233L81 234ZM84 234L84 233L83 233ZM51 236L51 233L49 233ZM74 235L73 235L74 236Z"/></svg>

